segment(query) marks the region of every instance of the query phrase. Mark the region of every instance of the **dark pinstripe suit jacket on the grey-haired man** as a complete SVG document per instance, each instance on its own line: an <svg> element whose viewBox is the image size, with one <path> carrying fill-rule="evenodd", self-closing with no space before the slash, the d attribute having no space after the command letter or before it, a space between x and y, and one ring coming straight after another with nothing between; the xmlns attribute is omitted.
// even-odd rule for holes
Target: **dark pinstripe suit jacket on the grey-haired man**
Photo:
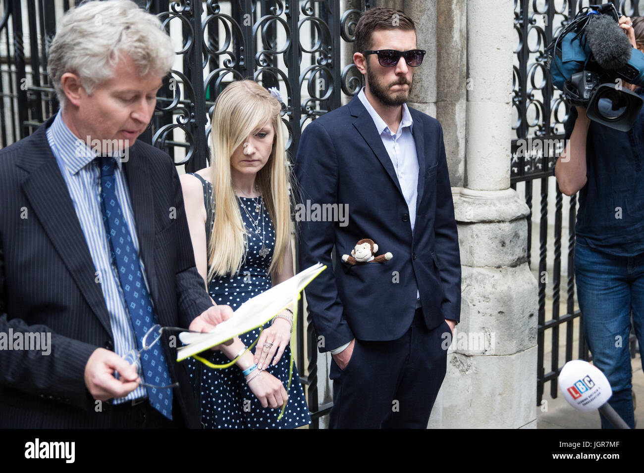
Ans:
<svg viewBox="0 0 644 473"><path fill-rule="evenodd" d="M109 313L47 142L52 121L0 150L0 335L52 334L49 355L0 349L0 427L108 427L111 405L103 402L97 412L84 369L95 349L113 347ZM156 319L187 327L212 302L194 266L175 166L137 141L124 172ZM176 360L165 341L167 359ZM175 417L199 427L185 367L169 368L180 383Z"/></svg>

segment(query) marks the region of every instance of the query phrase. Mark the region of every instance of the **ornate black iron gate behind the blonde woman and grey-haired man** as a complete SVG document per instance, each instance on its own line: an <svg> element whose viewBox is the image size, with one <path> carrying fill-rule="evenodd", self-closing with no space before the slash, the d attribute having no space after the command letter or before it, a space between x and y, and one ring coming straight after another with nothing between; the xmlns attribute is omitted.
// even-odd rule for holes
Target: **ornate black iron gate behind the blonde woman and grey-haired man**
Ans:
<svg viewBox="0 0 644 473"><path fill-rule="evenodd" d="M57 19L77 3L0 0L0 147L33 133L57 111L46 51ZM250 78L280 89L287 104L282 120L289 132L290 160L306 122L341 106L341 94L352 96L362 85L354 64L342 64L341 46L353 41L368 1L348 0L342 13L339 0L136 3L158 15L180 41L179 60L164 79L155 115L140 139L167 151L188 172L207 165L209 116L232 80ZM307 369L301 379L314 419L311 427L317 428L330 405L318 405L316 339L312 324L305 328L302 318L296 340L296 362L301 371Z"/></svg>

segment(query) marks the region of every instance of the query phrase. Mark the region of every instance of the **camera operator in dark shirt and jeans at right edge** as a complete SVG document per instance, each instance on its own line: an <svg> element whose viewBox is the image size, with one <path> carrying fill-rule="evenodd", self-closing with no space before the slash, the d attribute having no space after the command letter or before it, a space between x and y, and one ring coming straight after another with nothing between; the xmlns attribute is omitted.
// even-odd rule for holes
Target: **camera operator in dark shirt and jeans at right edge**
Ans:
<svg viewBox="0 0 644 473"><path fill-rule="evenodd" d="M644 51L644 17L620 18L634 48ZM644 97L644 89L623 83ZM634 428L629 353L630 315L644 342L644 107L627 132L591 122L571 107L567 147L555 167L559 189L579 194L574 273L583 330L593 363L611 382L609 404ZM611 428L601 416L601 427Z"/></svg>

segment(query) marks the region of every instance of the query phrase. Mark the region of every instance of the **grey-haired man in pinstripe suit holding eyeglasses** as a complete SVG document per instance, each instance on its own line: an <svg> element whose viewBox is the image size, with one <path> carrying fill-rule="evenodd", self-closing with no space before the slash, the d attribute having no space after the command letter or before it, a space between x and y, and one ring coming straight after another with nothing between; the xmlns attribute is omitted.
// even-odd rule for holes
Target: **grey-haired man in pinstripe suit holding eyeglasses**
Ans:
<svg viewBox="0 0 644 473"><path fill-rule="evenodd" d="M84 3L58 27L61 112L0 151L0 333L51 340L48 355L0 350L0 427L199 427L176 341L146 349L155 324L231 315L194 267L174 163L137 141L172 44L131 1Z"/></svg>

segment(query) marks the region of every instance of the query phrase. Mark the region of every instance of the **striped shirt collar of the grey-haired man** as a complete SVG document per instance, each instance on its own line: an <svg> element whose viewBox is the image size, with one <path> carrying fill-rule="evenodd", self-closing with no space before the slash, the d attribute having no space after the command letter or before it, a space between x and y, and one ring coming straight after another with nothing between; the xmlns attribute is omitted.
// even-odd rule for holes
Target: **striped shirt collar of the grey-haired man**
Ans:
<svg viewBox="0 0 644 473"><path fill-rule="evenodd" d="M56 147L58 157L71 174L77 174L99 156L100 145L98 141L93 145L94 140L92 140L90 143L92 147L88 147L84 140L71 133L69 127L62 120L62 113L56 114L49 130L51 131L53 145ZM118 151L112 154L117 156ZM116 162L119 171L122 171L122 160L117 159Z"/></svg>

